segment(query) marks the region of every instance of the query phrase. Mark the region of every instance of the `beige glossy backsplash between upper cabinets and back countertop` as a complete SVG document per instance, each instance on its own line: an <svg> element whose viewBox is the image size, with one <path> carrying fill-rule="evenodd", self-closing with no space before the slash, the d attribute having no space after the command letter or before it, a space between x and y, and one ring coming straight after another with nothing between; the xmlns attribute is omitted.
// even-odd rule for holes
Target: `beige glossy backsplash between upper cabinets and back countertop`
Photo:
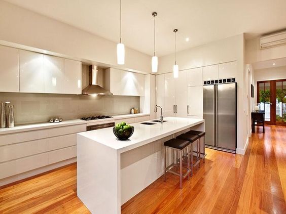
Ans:
<svg viewBox="0 0 286 214"><path fill-rule="evenodd" d="M129 114L139 109L139 97L0 93L0 102L14 105L15 123L47 122L50 118L78 119L92 115Z"/></svg>

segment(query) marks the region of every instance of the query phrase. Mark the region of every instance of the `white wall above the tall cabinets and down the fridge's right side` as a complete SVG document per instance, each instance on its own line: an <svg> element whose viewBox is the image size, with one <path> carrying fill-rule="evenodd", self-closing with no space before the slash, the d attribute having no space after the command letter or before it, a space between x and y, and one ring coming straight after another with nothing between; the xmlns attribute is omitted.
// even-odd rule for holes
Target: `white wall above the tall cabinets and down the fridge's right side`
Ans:
<svg viewBox="0 0 286 214"><path fill-rule="evenodd" d="M209 44L188 49L177 53L177 64L180 70L201 67L206 65L236 61L236 81L237 81L237 152L244 154L247 132L246 127L246 107L244 99L244 35L239 34ZM174 64L174 54L159 58L158 73L172 71Z"/></svg>

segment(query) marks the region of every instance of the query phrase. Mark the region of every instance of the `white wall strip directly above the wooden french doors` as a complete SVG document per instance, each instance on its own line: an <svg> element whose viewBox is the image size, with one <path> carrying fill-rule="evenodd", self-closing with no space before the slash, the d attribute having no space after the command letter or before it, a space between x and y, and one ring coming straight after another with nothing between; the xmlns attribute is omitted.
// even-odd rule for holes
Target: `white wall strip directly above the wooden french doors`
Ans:
<svg viewBox="0 0 286 214"><path fill-rule="evenodd" d="M286 79L286 66L255 70L255 81Z"/></svg>

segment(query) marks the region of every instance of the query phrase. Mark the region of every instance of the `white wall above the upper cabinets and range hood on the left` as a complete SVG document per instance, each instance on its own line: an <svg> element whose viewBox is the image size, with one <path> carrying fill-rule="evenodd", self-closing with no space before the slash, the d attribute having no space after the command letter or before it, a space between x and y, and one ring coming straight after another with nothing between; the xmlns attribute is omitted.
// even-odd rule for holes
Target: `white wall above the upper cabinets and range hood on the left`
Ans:
<svg viewBox="0 0 286 214"><path fill-rule="evenodd" d="M118 66L116 43L0 0L0 40ZM122 69L151 72L151 56L126 48Z"/></svg>

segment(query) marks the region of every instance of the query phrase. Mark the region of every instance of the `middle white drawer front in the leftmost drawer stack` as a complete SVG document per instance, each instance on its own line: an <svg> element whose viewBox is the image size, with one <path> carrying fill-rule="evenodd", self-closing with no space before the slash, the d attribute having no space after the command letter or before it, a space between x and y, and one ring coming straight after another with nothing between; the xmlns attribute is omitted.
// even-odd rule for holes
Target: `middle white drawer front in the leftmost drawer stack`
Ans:
<svg viewBox="0 0 286 214"><path fill-rule="evenodd" d="M48 139L28 141L0 147L0 162L14 160L48 151Z"/></svg>

